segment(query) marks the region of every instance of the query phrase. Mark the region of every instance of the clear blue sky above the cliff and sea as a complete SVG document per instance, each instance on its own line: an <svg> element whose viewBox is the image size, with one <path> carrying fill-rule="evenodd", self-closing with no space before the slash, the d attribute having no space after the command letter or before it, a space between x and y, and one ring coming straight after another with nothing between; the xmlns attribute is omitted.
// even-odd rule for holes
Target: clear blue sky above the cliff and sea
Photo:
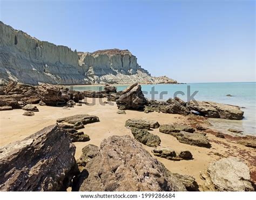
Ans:
<svg viewBox="0 0 256 200"><path fill-rule="evenodd" d="M129 49L154 76L255 81L255 1L4 1L0 19L71 49Z"/></svg>

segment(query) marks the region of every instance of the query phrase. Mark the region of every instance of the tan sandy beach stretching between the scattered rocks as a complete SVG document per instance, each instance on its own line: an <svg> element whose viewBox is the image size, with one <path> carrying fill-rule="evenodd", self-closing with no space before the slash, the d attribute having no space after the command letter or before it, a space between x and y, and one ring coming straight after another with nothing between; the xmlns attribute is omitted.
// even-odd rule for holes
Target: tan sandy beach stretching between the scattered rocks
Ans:
<svg viewBox="0 0 256 200"><path fill-rule="evenodd" d="M150 112L144 113L142 111L126 110L126 115L118 115L117 106L99 103L98 99L87 98L87 102L95 101L95 105L76 106L74 108L61 108L53 106L40 106L37 105L39 112L35 112L35 116L28 117L23 116L24 112L21 109L2 111L1 112L1 134L0 134L0 146L9 144L17 140L22 140L25 137L41 130L45 126L49 126L56 123L56 119L62 117L68 117L77 114L89 114L99 117L100 122L87 124L85 128L80 131L84 131L85 134L90 136L90 141L87 142L75 142L76 146L76 159L82 154L82 148L88 144L100 145L103 139L110 137L111 135L130 135L131 131L126 128L125 121L130 118L150 119L157 120L159 124L169 123L182 123L186 120L185 116ZM106 101L106 99L103 99ZM207 133L207 137L211 142L211 148L191 146L180 143L176 138L169 134L160 133L159 129L150 131L156 134L161 139L161 147L171 147L174 151L188 150L193 154L193 160L181 160L171 161L164 158L159 158L151 153L152 147L144 146L152 156L162 162L167 169L173 173L187 174L196 178L201 189L203 181L200 178L200 172L204 171L209 163L216 161L220 158L227 156L237 156L247 163L251 169L251 178L255 176L256 166L255 158L256 151L253 148L245 147L239 144L235 144L227 139L217 138L215 135ZM255 177L254 177L255 178Z"/></svg>

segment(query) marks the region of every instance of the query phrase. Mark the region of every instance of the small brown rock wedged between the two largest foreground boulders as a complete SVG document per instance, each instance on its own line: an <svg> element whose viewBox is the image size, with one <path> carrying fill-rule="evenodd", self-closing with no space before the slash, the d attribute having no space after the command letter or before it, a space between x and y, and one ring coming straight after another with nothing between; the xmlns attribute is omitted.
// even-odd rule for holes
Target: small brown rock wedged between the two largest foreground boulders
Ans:
<svg viewBox="0 0 256 200"><path fill-rule="evenodd" d="M82 149L82 155L79 159L77 159L77 165L82 171L87 162L89 162L92 158L94 158L99 152L99 147L95 145L87 145Z"/></svg>

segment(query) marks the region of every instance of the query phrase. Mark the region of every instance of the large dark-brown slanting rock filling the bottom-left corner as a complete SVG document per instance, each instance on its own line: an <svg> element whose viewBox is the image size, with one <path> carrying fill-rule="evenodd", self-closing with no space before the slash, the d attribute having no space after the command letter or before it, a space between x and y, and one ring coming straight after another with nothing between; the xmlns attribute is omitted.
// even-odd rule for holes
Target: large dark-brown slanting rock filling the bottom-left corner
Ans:
<svg viewBox="0 0 256 200"><path fill-rule="evenodd" d="M76 147L57 125L0 148L1 191L65 191L78 173Z"/></svg>

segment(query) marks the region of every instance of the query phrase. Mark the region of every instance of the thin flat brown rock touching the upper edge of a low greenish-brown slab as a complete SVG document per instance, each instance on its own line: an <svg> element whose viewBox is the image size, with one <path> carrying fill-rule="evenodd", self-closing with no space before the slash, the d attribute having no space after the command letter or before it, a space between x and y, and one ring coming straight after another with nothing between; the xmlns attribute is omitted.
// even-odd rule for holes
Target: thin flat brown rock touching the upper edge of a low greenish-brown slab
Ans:
<svg viewBox="0 0 256 200"><path fill-rule="evenodd" d="M186 131L189 133L193 133L195 130L194 130L194 128L187 126L187 125L164 124L164 125L160 125L159 131L161 133L173 134L173 133L179 133L180 131Z"/></svg>

